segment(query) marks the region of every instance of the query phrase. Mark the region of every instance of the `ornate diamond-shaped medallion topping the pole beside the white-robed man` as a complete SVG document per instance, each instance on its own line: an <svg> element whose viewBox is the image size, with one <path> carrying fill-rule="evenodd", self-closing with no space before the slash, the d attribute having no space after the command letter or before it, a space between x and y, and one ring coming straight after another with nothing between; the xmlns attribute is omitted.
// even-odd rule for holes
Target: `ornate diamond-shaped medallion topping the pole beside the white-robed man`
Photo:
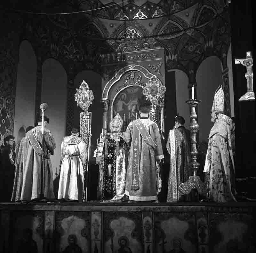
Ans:
<svg viewBox="0 0 256 253"><path fill-rule="evenodd" d="M92 90L90 90L88 84L83 81L79 89L76 89L75 101L77 102L77 106L80 106L86 112L92 104L93 99Z"/></svg>

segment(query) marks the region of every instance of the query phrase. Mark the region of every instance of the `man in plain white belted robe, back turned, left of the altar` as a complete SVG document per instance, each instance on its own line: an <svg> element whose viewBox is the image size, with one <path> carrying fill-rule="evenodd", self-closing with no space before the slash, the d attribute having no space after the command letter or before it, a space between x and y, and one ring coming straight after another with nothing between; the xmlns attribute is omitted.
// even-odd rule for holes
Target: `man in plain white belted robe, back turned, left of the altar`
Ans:
<svg viewBox="0 0 256 253"><path fill-rule="evenodd" d="M63 158L60 168L58 199L83 201L84 169L87 150L79 137L79 129L72 128L71 135L63 138L61 143Z"/></svg>

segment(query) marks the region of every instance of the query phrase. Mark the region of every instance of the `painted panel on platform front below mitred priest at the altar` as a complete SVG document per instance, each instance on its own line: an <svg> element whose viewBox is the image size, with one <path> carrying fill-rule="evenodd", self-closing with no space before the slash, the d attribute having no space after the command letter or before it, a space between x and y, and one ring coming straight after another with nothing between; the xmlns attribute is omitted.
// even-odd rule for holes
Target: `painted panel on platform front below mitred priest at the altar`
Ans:
<svg viewBox="0 0 256 253"><path fill-rule="evenodd" d="M141 228L140 213L105 213L104 252L142 253Z"/></svg>

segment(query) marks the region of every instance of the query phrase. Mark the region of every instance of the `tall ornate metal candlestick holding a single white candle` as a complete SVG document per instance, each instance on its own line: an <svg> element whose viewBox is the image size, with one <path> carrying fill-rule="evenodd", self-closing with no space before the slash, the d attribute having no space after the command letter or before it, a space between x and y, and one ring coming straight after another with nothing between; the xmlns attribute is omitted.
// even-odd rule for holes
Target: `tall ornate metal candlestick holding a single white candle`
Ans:
<svg viewBox="0 0 256 253"><path fill-rule="evenodd" d="M194 98L194 86L192 86L192 96L191 99L188 99L186 101L186 103L189 105L189 107L191 108L191 112L190 112L190 124L189 124L189 130L191 133L191 158L192 161L190 163L190 168L193 171L193 175L189 176L188 180L185 183L181 183L179 186L179 190L181 193L183 194L189 194L191 192L192 189L196 189L197 192L199 194L202 195L206 195L206 189L205 189L205 185L204 183L201 181L201 179L199 178L199 176L197 176L197 170L199 169L199 163L197 162L197 148L196 148L196 144L197 144L197 140L196 140L196 136L197 136L197 132L199 129L199 125L196 121L197 119L197 115L196 115L196 107L199 105L199 103L201 102L201 100L195 99Z"/></svg>

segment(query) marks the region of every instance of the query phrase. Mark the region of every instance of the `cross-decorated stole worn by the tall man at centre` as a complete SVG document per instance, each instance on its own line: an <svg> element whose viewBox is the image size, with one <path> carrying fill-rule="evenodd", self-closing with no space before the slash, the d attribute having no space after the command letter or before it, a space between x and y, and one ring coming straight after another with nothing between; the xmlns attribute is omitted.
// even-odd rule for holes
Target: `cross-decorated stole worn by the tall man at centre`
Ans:
<svg viewBox="0 0 256 253"><path fill-rule="evenodd" d="M148 147L155 151L156 143L153 141L151 136L148 133L148 130L143 125L143 123L138 120L133 121L133 152L132 152L132 185L133 190L139 189L139 171L140 171L140 135L147 143Z"/></svg>

